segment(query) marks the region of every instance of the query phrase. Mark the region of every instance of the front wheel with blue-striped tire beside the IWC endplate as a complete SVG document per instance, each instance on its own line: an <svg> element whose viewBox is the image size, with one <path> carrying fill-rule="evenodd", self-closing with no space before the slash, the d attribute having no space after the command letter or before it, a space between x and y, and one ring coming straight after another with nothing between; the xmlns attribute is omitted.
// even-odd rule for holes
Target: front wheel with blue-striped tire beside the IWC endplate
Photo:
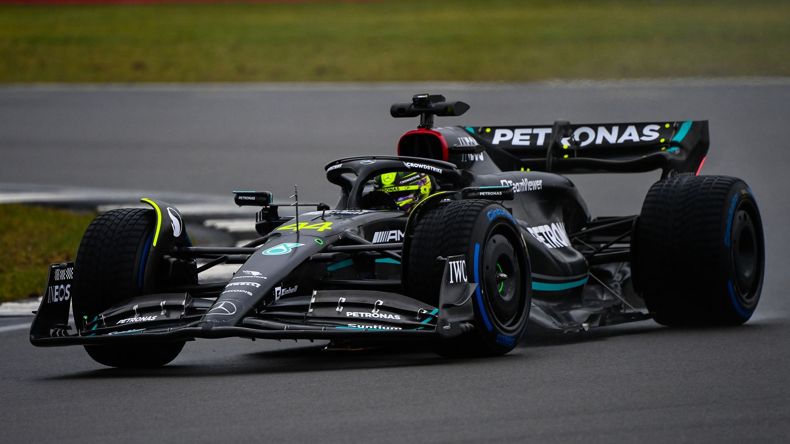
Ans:
<svg viewBox="0 0 790 444"><path fill-rule="evenodd" d="M439 256L465 255L469 282L478 284L472 295L475 328L438 343L438 354L495 356L516 347L529 319L532 277L521 231L502 205L485 200L437 205L419 215L408 245L407 295L438 307L444 269Z"/></svg>

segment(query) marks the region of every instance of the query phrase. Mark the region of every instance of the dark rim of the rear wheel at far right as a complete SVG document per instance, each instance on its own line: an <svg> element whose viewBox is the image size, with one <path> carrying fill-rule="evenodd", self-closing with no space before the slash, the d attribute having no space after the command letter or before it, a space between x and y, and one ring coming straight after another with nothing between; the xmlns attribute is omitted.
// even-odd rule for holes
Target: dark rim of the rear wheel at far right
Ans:
<svg viewBox="0 0 790 444"><path fill-rule="evenodd" d="M757 293L762 269L762 237L754 221L754 205L750 201L742 201L732 217L730 248L735 293L747 304Z"/></svg>

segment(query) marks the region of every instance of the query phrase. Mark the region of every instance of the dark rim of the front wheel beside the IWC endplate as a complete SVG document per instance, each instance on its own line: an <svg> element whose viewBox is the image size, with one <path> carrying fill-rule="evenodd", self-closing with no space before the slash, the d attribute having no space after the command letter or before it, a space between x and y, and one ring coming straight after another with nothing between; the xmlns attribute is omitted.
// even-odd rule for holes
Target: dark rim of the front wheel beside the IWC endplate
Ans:
<svg viewBox="0 0 790 444"><path fill-rule="evenodd" d="M499 325L521 321L521 268L513 246L502 234L491 235L483 251L483 292Z"/></svg>

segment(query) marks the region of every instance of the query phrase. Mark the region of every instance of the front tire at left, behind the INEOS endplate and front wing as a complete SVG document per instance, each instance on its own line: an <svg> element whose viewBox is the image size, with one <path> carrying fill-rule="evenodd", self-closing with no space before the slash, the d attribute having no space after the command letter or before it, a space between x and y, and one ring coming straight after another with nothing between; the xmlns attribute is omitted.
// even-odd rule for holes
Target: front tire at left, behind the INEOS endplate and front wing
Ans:
<svg viewBox="0 0 790 444"><path fill-rule="evenodd" d="M143 293L155 227L152 209L113 209L91 222L74 262L72 307L77 331L107 308ZM85 351L109 367L160 367L179 356L183 346L183 341L86 345Z"/></svg>

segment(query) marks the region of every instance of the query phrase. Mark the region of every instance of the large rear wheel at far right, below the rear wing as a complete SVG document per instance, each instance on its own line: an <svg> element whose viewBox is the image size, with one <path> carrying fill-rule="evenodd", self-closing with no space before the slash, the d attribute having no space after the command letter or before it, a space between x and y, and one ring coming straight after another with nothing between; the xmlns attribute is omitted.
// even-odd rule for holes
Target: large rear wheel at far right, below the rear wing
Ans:
<svg viewBox="0 0 790 444"><path fill-rule="evenodd" d="M765 246L745 182L725 176L656 182L635 228L634 285L656 322L739 325L751 317Z"/></svg>

